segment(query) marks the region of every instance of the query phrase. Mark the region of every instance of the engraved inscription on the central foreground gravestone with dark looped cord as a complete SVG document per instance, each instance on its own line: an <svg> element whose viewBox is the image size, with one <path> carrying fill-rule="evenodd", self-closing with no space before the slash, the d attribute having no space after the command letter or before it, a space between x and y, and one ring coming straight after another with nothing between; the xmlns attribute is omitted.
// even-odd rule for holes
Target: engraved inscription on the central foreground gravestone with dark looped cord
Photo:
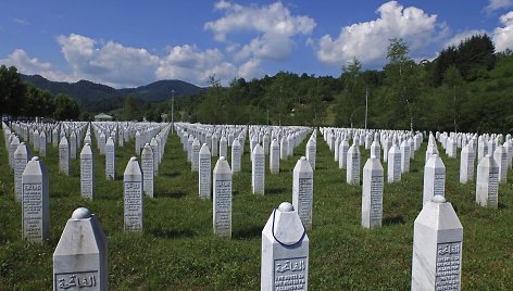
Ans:
<svg viewBox="0 0 513 291"><path fill-rule="evenodd" d="M274 290L304 290L306 257L274 261Z"/></svg>

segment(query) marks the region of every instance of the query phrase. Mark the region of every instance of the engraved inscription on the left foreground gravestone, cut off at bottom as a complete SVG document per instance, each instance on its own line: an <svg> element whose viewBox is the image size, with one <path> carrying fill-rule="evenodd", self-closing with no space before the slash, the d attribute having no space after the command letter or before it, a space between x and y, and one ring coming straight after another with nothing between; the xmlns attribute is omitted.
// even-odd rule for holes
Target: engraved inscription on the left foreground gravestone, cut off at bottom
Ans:
<svg viewBox="0 0 513 291"><path fill-rule="evenodd" d="M55 286L53 290L98 290L98 270L59 273L54 275Z"/></svg>

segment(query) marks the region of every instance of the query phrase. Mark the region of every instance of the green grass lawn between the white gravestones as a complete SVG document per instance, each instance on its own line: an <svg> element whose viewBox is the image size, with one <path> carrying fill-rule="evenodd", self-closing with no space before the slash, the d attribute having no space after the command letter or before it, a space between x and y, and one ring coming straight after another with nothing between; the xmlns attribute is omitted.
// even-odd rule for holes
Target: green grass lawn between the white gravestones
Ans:
<svg viewBox="0 0 513 291"><path fill-rule="evenodd" d="M41 157L50 176L50 239L22 239L21 204L14 202L13 174L0 135L0 290L49 290L52 254L72 212L79 206L97 215L109 240L109 283L112 290L259 290L261 231L284 201L291 202L292 169L304 155L305 139L293 157L280 161L271 175L266 156L265 195L251 193L249 143L242 172L234 176L233 236L212 231L212 200L198 194L198 173L191 173L179 139L171 135L154 199L143 201L143 232L123 230L123 172L134 155L134 141L116 149L116 180L107 180L104 156L95 144L96 198L80 197L79 159L70 176L59 174L58 150ZM408 290L411 283L413 223L422 208L424 141L401 182L384 186L381 228L361 227L361 186L346 184L333 153L317 134L314 170L313 228L310 238L311 290ZM441 147L438 146L440 153ZM229 151L229 149L228 149ZM360 147L361 168L368 151ZM37 155L37 152L33 152ZM460 161L441 157L447 168L446 198L463 225L463 290L513 288L513 174L499 188L499 207L475 203L475 181L459 182ZM229 160L229 154L228 154ZM212 159L212 168L217 157ZM383 163L386 169L386 164Z"/></svg>

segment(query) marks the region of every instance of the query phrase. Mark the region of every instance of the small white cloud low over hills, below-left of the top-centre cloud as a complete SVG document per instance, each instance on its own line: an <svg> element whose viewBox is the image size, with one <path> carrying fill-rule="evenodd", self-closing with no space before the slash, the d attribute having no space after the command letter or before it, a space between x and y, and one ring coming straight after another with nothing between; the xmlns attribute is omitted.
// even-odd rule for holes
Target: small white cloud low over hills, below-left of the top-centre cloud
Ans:
<svg viewBox="0 0 513 291"><path fill-rule="evenodd" d="M185 45L173 47L162 58L155 74L159 79L180 79L205 86L212 75L227 84L236 73L236 66L226 62L217 49L201 51L196 46Z"/></svg>

